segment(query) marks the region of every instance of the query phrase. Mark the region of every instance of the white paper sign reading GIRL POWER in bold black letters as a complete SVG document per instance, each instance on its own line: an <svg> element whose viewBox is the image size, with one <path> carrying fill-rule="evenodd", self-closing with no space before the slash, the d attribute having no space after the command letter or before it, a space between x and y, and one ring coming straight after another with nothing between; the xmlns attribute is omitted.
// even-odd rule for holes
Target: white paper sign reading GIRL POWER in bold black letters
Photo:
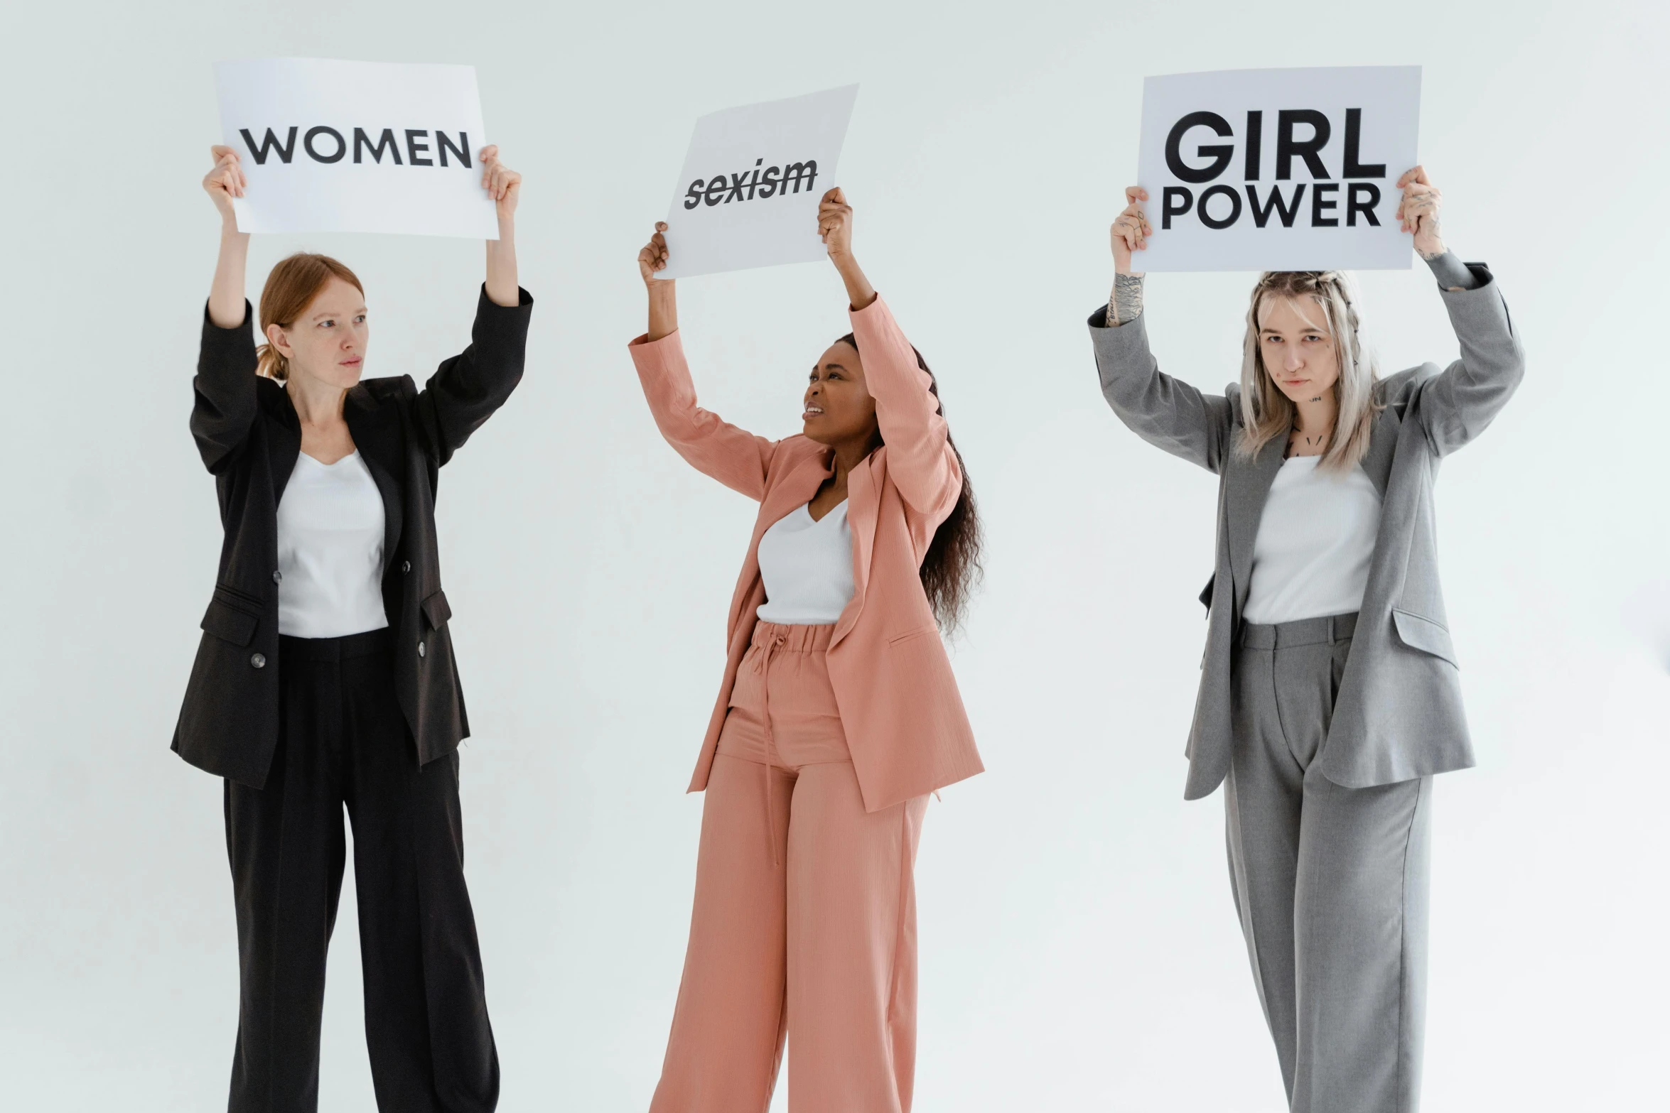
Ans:
<svg viewBox="0 0 1670 1113"><path fill-rule="evenodd" d="M1142 83L1142 270L1409 267L1398 177L1421 67L1176 73Z"/></svg>

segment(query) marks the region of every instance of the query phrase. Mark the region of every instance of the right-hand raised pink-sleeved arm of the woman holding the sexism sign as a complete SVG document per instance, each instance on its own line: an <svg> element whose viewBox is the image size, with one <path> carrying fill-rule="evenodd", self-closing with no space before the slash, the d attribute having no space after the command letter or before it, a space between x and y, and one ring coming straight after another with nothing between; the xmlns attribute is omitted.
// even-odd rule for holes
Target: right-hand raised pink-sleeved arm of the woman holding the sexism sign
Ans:
<svg viewBox="0 0 1670 1113"><path fill-rule="evenodd" d="M939 526L962 494L962 469L939 412L934 377L922 370L917 350L852 254L852 205L838 187L818 205L818 235L847 287L852 334L887 444L887 476L912 511Z"/></svg>

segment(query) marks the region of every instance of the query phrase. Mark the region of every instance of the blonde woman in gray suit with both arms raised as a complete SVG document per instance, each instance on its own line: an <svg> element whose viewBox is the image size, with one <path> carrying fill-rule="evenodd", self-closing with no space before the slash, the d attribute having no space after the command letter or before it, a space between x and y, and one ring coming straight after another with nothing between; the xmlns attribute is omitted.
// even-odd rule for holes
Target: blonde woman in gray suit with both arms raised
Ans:
<svg viewBox="0 0 1670 1113"><path fill-rule="evenodd" d="M1141 189L1091 317L1121 421L1219 476L1184 796L1224 784L1231 889L1294 1113L1420 1101L1431 778L1473 764L1433 479L1523 374L1495 279L1445 249L1438 189L1420 167L1398 189L1461 344L1441 370L1379 379L1351 284L1328 270L1259 277L1222 395L1161 374L1131 269L1152 234Z"/></svg>

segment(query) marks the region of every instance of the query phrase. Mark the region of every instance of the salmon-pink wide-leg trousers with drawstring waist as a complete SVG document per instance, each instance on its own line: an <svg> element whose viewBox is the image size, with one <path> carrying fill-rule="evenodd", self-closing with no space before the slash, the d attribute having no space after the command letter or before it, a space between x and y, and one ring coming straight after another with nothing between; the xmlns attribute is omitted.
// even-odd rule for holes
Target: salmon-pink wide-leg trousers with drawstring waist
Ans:
<svg viewBox="0 0 1670 1113"><path fill-rule="evenodd" d="M760 622L701 811L696 903L651 1113L908 1113L927 796L867 813L825 649Z"/></svg>

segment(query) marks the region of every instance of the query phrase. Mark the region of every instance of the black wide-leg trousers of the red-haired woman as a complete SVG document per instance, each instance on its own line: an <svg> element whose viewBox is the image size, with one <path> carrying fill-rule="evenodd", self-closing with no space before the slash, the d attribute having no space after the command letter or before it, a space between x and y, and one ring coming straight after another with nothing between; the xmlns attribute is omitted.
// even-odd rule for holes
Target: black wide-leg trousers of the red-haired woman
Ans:
<svg viewBox="0 0 1670 1113"><path fill-rule="evenodd" d="M230 1113L314 1113L326 948L354 824L366 1046L384 1113L489 1113L499 1060L464 888L458 754L426 766L389 632L279 641L267 786L225 783L242 998Z"/></svg>

